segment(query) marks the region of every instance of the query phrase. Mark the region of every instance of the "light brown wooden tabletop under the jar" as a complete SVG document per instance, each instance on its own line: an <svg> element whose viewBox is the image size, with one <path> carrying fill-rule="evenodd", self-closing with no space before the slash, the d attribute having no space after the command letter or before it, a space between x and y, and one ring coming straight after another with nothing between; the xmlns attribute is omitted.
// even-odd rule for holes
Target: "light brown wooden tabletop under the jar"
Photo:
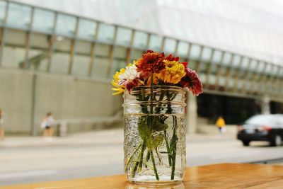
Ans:
<svg viewBox="0 0 283 189"><path fill-rule="evenodd" d="M146 187L128 183L125 175L117 175L0 187L2 188L144 189ZM283 166L253 164L195 166L186 169L183 183L159 188L283 188Z"/></svg>

